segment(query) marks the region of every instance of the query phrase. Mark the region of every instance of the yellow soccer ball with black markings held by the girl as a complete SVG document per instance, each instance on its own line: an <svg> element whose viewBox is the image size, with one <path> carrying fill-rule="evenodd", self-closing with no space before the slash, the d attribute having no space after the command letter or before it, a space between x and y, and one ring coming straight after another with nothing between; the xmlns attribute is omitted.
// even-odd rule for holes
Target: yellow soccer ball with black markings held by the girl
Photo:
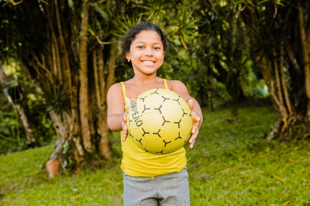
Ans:
<svg viewBox="0 0 310 206"><path fill-rule="evenodd" d="M174 91L149 89L138 95L127 113L128 137L142 150L169 154L191 136L193 118L186 101Z"/></svg>

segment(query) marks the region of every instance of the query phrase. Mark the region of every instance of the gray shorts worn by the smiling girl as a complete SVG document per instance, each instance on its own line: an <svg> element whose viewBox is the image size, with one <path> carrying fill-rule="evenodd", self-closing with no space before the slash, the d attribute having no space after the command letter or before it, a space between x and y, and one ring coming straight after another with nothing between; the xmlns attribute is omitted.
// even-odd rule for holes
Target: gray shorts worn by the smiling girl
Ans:
<svg viewBox="0 0 310 206"><path fill-rule="evenodd" d="M188 172L152 177L132 177L123 173L124 206L190 206Z"/></svg>

